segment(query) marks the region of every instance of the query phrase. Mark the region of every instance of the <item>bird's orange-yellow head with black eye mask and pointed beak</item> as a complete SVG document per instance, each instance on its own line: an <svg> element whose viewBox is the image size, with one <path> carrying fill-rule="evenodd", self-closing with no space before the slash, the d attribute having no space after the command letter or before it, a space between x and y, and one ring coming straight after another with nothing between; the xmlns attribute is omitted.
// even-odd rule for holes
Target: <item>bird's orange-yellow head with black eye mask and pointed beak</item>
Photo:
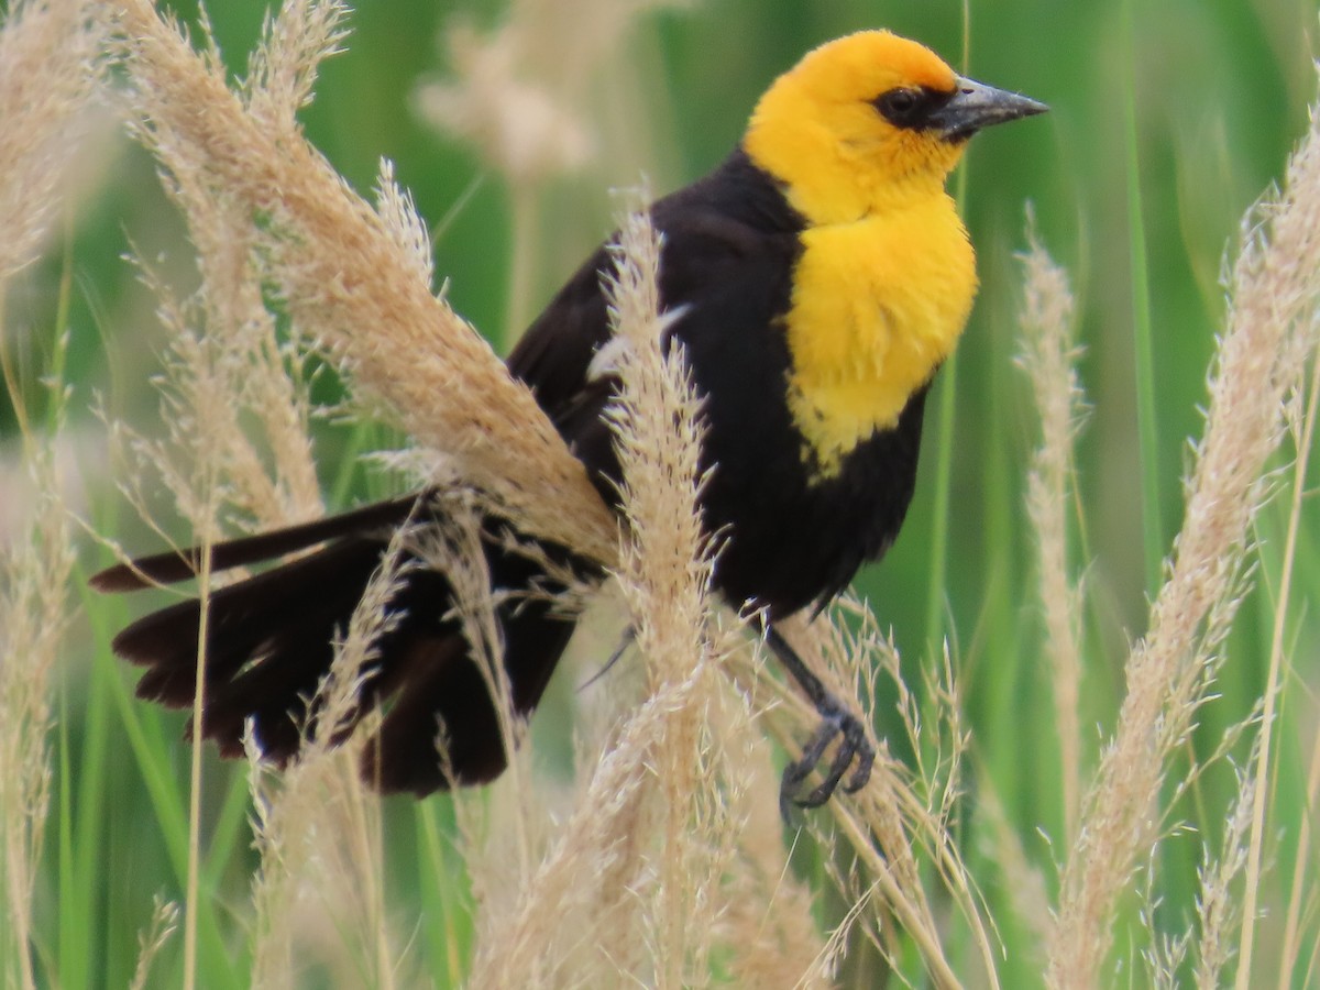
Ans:
<svg viewBox="0 0 1320 990"><path fill-rule="evenodd" d="M809 223L840 223L929 195L975 131L1044 110L960 77L915 41L867 30L776 79L743 148Z"/></svg>

